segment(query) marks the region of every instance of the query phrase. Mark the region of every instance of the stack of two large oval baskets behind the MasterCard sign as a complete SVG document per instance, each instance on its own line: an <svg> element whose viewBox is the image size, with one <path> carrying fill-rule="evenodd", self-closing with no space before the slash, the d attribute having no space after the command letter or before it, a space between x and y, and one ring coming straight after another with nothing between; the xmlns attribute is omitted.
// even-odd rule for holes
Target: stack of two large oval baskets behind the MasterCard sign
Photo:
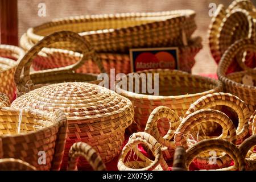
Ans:
<svg viewBox="0 0 256 182"><path fill-rule="evenodd" d="M44 36L63 30L77 32L92 43L107 73L110 68L115 68L116 73L130 73L129 49L146 47L179 47L180 69L191 72L194 57L202 48L201 38L191 38L196 30L192 10L57 19L28 29L20 44L28 50ZM73 64L80 59L80 51L65 42L46 46L36 56L33 68L43 70ZM77 72L100 73L100 70L88 60Z"/></svg>

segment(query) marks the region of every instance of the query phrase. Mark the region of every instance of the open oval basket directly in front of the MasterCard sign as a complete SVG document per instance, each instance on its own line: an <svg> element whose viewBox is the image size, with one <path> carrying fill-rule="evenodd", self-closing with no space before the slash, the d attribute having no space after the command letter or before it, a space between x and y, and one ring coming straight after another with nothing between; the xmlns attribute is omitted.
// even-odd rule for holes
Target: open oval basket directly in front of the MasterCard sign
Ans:
<svg viewBox="0 0 256 182"><path fill-rule="evenodd" d="M130 77L130 78L129 78ZM129 80L141 77L139 80ZM157 80L159 78L159 80ZM122 79L126 79L132 89L125 88ZM156 82L155 82L156 79ZM144 85L147 81L152 84ZM154 83L155 82L155 83ZM153 84L154 83L154 84ZM159 88L159 92L149 94L147 88ZM149 87L148 87L149 86ZM138 90L137 90L138 89ZM158 106L166 106L174 110L179 117L183 117L190 105L202 96L209 93L220 92L222 84L218 80L207 77L191 75L186 72L168 70L168 69L151 69L148 71L130 73L117 81L115 90L122 96L131 100L135 110L135 131L145 129L147 119L152 111ZM128 90L128 91L127 91ZM135 93L135 91L137 93ZM169 122L164 119L159 123L160 133L163 135L169 129Z"/></svg>

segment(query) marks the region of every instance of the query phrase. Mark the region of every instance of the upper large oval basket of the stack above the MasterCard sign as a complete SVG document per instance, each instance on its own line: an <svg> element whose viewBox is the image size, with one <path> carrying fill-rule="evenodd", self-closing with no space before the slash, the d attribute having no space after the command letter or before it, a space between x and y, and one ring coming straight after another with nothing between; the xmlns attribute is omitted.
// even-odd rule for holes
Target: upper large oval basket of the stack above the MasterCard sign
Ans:
<svg viewBox="0 0 256 182"><path fill-rule="evenodd" d="M36 43L43 36L63 30L80 33L97 52L121 53L131 47L164 47L170 44L181 46L196 30L195 11L76 16L29 28L27 36ZM65 43L48 47L76 51Z"/></svg>

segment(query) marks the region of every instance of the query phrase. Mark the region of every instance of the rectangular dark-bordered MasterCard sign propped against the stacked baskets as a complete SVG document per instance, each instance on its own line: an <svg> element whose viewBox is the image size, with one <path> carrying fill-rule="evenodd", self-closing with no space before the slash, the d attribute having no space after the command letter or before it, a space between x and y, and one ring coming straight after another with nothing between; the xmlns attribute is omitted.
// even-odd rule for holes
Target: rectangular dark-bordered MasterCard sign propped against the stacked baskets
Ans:
<svg viewBox="0 0 256 182"><path fill-rule="evenodd" d="M131 71L179 69L178 51L175 47L130 49Z"/></svg>

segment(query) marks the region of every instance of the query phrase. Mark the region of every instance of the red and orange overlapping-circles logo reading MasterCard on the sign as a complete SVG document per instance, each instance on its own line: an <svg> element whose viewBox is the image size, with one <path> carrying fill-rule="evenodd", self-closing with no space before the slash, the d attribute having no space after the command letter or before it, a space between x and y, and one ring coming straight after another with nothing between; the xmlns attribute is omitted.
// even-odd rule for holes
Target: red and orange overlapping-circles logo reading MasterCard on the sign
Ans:
<svg viewBox="0 0 256 182"><path fill-rule="evenodd" d="M143 52L135 60L136 71L144 69L175 69L176 61L169 52L160 51L158 53Z"/></svg>

